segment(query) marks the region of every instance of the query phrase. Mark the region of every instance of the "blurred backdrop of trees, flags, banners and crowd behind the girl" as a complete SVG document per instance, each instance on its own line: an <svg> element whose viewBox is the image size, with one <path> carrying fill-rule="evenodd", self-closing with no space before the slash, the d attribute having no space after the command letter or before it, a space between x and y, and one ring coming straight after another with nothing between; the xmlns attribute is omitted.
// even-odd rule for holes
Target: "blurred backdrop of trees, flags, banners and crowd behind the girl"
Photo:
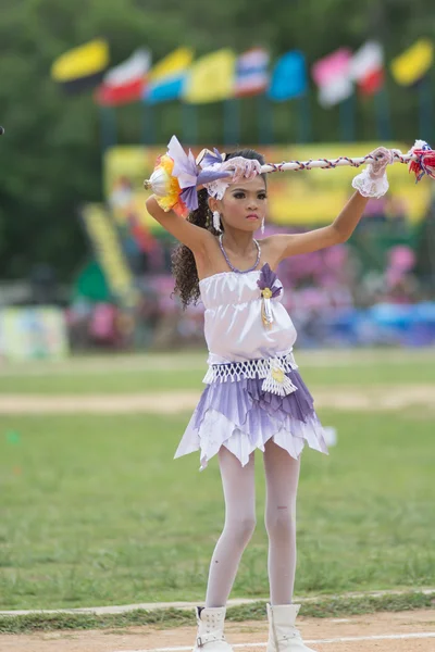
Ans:
<svg viewBox="0 0 435 652"><path fill-rule="evenodd" d="M145 209L173 134L269 162L435 142L430 0L3 4L3 360L203 346L202 304L173 296L176 242ZM270 175L264 236L331 223L355 174ZM435 185L400 164L388 178L348 242L281 264L298 346L435 342Z"/></svg>

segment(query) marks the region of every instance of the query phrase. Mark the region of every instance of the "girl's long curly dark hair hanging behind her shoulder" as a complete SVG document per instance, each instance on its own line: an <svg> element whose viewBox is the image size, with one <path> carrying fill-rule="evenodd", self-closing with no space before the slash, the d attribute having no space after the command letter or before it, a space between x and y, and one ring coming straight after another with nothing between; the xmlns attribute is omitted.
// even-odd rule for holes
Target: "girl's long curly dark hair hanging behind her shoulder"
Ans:
<svg viewBox="0 0 435 652"><path fill-rule="evenodd" d="M243 149L231 154L226 154L225 160L234 159L235 156L244 156L244 159L256 159L261 165L264 164L264 158L262 154L252 149ZM266 180L266 175L261 175ZM219 233L213 227L213 216L208 203L209 193L207 188L202 188L198 192L198 208L187 217L187 222L207 228L217 236ZM222 225L222 230L224 226ZM197 303L200 297L199 294L199 278L198 271L195 263L194 254L186 244L178 244L171 254L172 259L172 274L175 277L174 292L178 294L182 300L183 310L186 310L189 303Z"/></svg>

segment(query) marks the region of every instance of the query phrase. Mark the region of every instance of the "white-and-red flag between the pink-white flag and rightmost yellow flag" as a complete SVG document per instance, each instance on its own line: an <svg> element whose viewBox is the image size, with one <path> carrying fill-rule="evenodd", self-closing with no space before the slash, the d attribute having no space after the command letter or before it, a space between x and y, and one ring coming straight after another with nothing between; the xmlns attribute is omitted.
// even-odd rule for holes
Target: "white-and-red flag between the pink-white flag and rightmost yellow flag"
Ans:
<svg viewBox="0 0 435 652"><path fill-rule="evenodd" d="M384 86L384 51L381 43L366 41L350 61L350 76L365 96Z"/></svg>

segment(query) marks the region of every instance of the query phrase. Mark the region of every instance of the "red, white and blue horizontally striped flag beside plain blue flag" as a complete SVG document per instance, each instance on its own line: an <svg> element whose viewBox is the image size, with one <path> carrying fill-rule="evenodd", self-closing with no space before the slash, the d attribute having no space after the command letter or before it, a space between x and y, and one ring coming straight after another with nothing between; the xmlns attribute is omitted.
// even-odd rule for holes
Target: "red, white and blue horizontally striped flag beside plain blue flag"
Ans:
<svg viewBox="0 0 435 652"><path fill-rule="evenodd" d="M260 95L269 86L268 66L270 54L264 48L251 48L237 59L234 96Z"/></svg>

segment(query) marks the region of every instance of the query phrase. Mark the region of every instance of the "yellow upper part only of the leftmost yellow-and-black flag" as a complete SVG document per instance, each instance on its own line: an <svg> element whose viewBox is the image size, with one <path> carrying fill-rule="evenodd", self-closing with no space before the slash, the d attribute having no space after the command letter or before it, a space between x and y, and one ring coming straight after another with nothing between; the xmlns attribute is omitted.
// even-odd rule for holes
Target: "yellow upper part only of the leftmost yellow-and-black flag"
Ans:
<svg viewBox="0 0 435 652"><path fill-rule="evenodd" d="M51 76L54 82L67 84L101 74L108 64L109 45L105 40L96 39L59 57L51 66Z"/></svg>

